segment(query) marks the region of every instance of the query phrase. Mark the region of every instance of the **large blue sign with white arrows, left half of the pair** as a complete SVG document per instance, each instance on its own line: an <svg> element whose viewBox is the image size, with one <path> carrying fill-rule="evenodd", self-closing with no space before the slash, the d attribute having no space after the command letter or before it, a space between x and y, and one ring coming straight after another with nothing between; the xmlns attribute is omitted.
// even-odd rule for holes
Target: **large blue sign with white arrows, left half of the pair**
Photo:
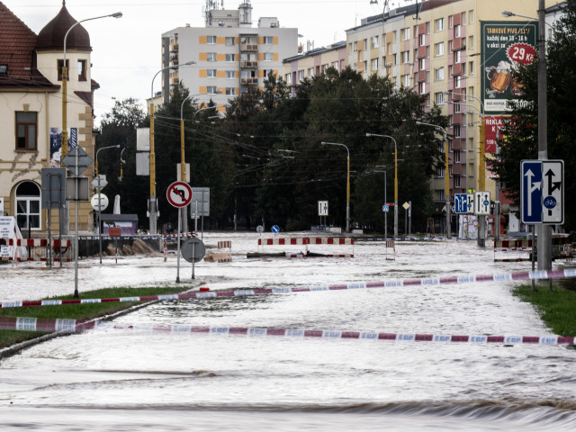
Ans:
<svg viewBox="0 0 576 432"><path fill-rule="evenodd" d="M542 161L523 160L520 175L521 220L527 224L542 223Z"/></svg>

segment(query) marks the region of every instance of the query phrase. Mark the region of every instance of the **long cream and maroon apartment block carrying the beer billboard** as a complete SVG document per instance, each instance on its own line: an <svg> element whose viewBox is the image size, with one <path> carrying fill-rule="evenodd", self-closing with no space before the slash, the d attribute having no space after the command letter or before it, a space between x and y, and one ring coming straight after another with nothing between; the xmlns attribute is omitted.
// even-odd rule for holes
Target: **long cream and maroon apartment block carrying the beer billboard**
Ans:
<svg viewBox="0 0 576 432"><path fill-rule="evenodd" d="M498 124L509 110L506 101L521 97L509 67L528 61L537 49L537 23L505 17L504 8L537 16L536 2L523 0L425 0L347 30L349 66L365 77L389 76L425 95L428 109L437 104L450 118L449 172L438 168L431 180L438 215L446 202L446 175L452 202L455 193L468 189L489 190L494 200L484 152L494 157Z"/></svg>

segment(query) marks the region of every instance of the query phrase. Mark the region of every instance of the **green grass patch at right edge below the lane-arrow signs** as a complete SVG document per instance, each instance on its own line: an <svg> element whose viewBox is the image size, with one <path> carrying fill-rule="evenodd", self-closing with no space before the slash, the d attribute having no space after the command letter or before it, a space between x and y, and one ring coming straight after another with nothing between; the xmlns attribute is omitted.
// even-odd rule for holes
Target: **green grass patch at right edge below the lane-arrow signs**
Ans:
<svg viewBox="0 0 576 432"><path fill-rule="evenodd" d="M536 290L532 292L531 284L522 284L513 293L522 302L532 303L555 335L576 336L576 291L556 285L552 293L547 286L536 286Z"/></svg>

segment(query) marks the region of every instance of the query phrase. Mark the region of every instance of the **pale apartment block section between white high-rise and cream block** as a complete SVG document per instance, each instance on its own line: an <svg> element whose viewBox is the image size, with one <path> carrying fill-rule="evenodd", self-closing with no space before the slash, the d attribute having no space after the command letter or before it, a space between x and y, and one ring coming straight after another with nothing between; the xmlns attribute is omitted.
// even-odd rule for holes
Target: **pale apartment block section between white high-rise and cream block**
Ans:
<svg viewBox="0 0 576 432"><path fill-rule="evenodd" d="M347 67L346 40L284 58L284 81L288 85L295 85L305 77L323 74L329 67L334 67L338 72Z"/></svg>

